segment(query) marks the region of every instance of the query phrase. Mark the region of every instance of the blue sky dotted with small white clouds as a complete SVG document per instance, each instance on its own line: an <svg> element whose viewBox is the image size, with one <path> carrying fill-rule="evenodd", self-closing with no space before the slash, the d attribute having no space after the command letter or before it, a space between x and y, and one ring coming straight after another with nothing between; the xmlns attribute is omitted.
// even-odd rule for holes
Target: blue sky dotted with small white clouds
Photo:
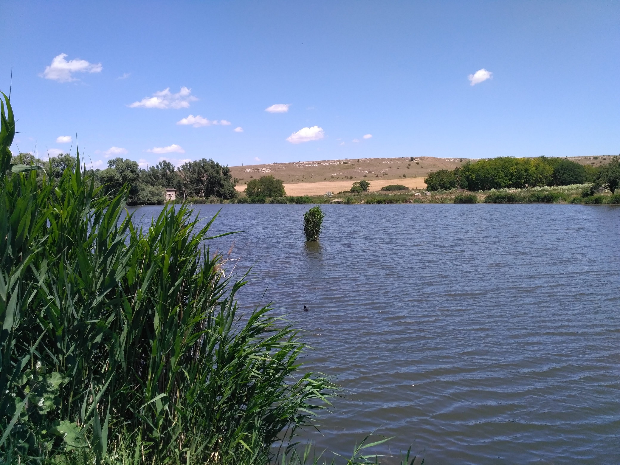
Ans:
<svg viewBox="0 0 620 465"><path fill-rule="evenodd" d="M617 1L2 1L0 30L14 152L76 135L99 167L620 152Z"/></svg>

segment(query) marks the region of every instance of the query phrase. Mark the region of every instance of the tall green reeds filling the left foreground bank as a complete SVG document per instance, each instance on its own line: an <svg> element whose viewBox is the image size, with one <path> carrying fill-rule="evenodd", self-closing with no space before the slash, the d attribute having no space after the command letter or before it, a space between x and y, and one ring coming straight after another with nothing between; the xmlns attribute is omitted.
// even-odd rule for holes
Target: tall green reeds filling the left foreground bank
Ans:
<svg viewBox="0 0 620 465"><path fill-rule="evenodd" d="M6 102L0 462L317 463L295 438L335 386L302 370L304 343L270 306L239 314L244 277L205 246L215 217L168 205L142 231L130 185L107 195L79 153L57 178L12 164Z"/></svg>

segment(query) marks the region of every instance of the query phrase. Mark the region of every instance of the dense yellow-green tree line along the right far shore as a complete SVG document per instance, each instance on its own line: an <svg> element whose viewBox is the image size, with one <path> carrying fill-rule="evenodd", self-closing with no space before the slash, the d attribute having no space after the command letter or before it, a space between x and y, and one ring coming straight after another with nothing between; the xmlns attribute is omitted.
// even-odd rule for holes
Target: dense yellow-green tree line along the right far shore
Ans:
<svg viewBox="0 0 620 465"><path fill-rule="evenodd" d="M595 188L608 188L614 192L620 182L620 162L618 157L613 157L607 165L590 167L567 159L544 156L496 157L467 163L453 170L435 171L424 182L428 190L459 188L472 191L591 182Z"/></svg>

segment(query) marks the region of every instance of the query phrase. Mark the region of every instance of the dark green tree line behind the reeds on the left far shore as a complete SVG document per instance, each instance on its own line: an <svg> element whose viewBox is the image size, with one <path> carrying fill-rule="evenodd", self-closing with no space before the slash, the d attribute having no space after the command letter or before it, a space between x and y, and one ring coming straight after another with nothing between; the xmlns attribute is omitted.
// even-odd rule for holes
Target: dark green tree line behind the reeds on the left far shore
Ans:
<svg viewBox="0 0 620 465"><path fill-rule="evenodd" d="M35 164L47 170L49 177L60 179L67 168L74 169L76 158L64 153L44 161L29 153L13 157L13 163ZM120 157L108 160L105 169L86 170L94 175L95 187L102 186L110 197L117 195L123 185L128 185L127 201L130 205L164 203L166 188L177 190L177 198L218 197L229 200L236 196L237 179L232 178L228 166L213 159L190 161L175 167L160 161L148 169L141 169L138 162ZM39 177L42 177L42 173Z"/></svg>

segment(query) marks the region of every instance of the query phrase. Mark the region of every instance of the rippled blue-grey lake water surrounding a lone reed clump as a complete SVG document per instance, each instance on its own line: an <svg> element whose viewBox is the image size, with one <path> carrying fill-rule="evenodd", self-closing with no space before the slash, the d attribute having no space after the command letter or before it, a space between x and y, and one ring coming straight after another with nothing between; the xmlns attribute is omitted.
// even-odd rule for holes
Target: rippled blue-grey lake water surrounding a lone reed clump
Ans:
<svg viewBox="0 0 620 465"><path fill-rule="evenodd" d="M196 208L243 231L211 247L254 266L244 308L273 301L343 387L320 448L377 430L430 464L620 463L620 208L327 205L318 244L307 206Z"/></svg>

